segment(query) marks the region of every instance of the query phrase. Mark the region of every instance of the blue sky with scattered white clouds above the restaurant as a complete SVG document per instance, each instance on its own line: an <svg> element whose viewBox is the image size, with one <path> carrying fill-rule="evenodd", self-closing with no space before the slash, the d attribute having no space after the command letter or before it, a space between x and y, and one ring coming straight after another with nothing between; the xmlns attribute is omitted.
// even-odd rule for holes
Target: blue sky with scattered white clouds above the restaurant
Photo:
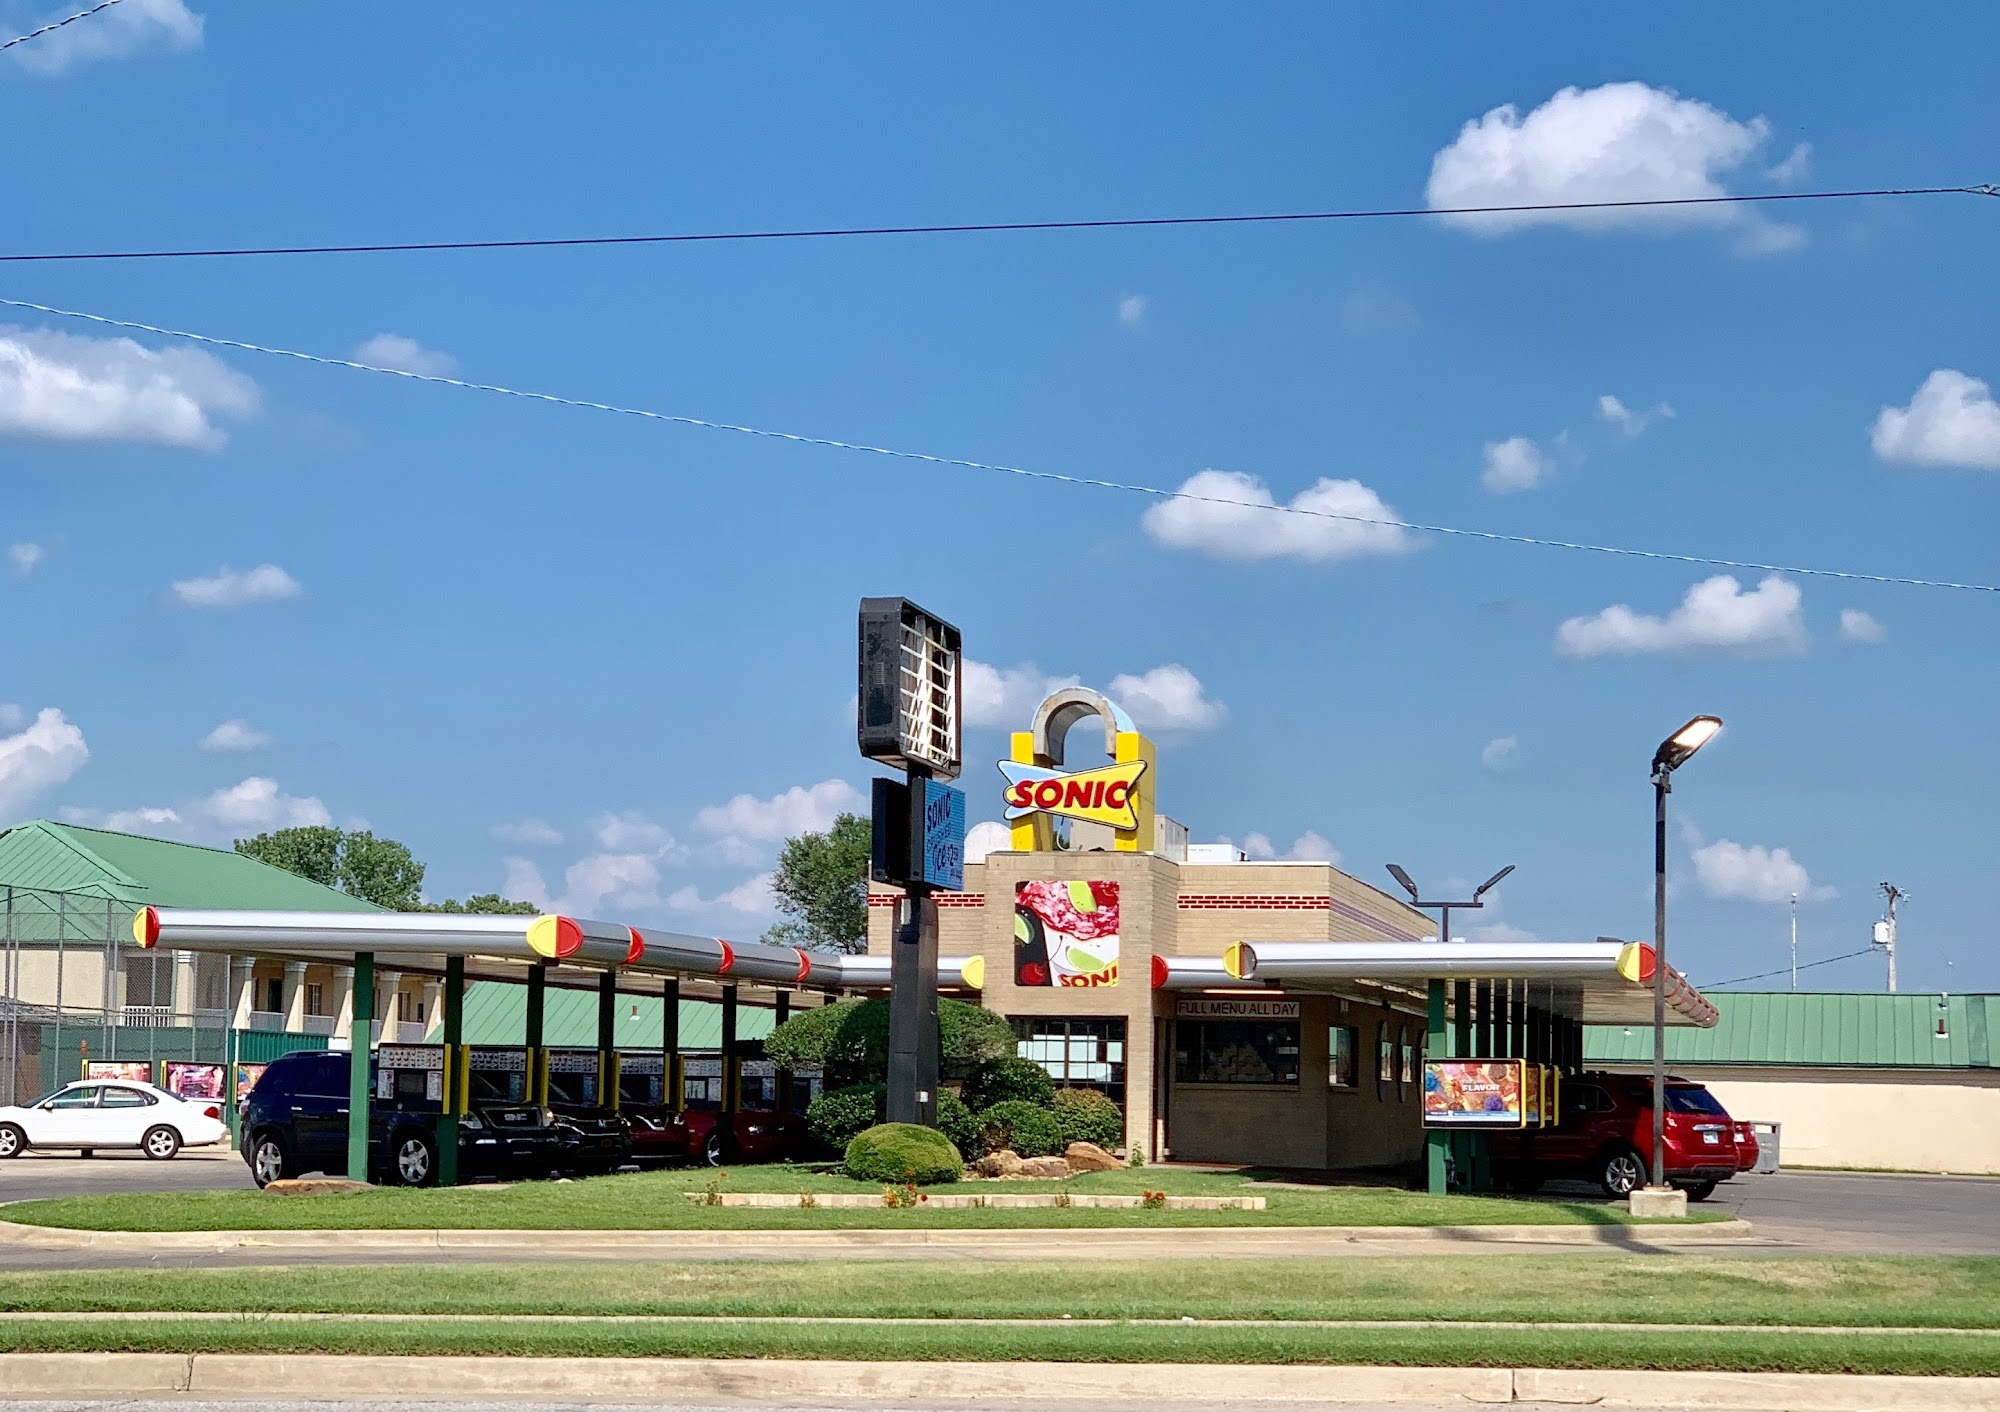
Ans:
<svg viewBox="0 0 2000 1412"><path fill-rule="evenodd" d="M0 248L1966 184L2000 176L1996 32L1978 4L384 30L122 0L0 56ZM0 296L1226 500L2000 582L2000 204L1732 212L16 264ZM1152 508L0 324L4 820L366 820L434 896L752 936L778 840L866 788L852 616L902 592L990 668L976 820L1004 730L1082 678L1154 724L1196 838L1378 884L1514 862L1474 928L1642 936L1646 762L1716 712L1674 794L1698 982L1782 966L1792 890L1804 960L1866 946L1892 878L1904 986L2000 988L1992 594Z"/></svg>

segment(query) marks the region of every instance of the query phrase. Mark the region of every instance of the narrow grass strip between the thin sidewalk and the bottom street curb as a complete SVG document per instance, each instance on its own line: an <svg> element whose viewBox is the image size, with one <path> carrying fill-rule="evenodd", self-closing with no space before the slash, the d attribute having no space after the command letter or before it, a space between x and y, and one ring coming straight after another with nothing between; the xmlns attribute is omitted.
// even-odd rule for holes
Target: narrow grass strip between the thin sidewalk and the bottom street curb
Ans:
<svg viewBox="0 0 2000 1412"><path fill-rule="evenodd" d="M2000 1338L1964 1334L1722 1334L1568 1330L1324 1330L1216 1326L1008 1328L868 1324L174 1324L0 1316L6 1352L318 1352L626 1358L884 1358L1036 1362L1254 1362L1750 1372L2000 1374Z"/></svg>

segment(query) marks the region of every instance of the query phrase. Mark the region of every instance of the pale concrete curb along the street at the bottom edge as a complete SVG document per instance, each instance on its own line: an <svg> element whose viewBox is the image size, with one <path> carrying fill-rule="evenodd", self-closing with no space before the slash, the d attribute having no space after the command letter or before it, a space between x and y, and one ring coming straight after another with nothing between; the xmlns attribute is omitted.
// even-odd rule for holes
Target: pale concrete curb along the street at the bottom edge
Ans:
<svg viewBox="0 0 2000 1412"><path fill-rule="evenodd" d="M1728 1412L1996 1412L2000 1378L1270 1364L0 1354L0 1398L708 1398L802 1402L1580 1402Z"/></svg>

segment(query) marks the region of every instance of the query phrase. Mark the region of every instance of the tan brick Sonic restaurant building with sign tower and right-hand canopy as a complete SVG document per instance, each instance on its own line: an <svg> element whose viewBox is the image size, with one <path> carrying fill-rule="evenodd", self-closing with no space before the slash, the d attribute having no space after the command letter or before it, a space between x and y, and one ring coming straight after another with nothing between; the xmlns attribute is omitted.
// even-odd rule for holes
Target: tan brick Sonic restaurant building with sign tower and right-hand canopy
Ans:
<svg viewBox="0 0 2000 1412"><path fill-rule="evenodd" d="M1100 738L1090 722L1102 758L1066 760ZM1430 1066L1430 1128L1538 1126L1584 1022L1652 1020L1650 948L1440 942L1426 912L1330 862L1190 846L1156 808L1152 742L1098 692L1044 700L1000 776L1008 846L936 894L938 950L982 974L1024 1058L1112 1098L1148 1160L1414 1162L1426 1060L1464 1060ZM870 890L872 954L898 898ZM1670 988L1670 1022L1712 1022Z"/></svg>

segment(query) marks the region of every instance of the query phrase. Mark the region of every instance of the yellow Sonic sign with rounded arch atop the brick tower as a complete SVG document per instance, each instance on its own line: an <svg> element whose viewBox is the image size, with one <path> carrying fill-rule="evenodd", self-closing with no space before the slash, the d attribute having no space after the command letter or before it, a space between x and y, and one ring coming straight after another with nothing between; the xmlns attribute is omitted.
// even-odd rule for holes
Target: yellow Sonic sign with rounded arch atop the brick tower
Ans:
<svg viewBox="0 0 2000 1412"><path fill-rule="evenodd" d="M1104 722L1110 764L1066 770L1062 752L1070 728L1092 716ZM1072 836L1070 822L1058 820L1088 826L1114 852L1154 846L1152 742L1114 702L1080 686L1060 690L1034 712L1034 730L1016 732L1012 746L1014 758L1000 762L1000 774L1006 776L1002 800L1016 850L1086 846L1082 836Z"/></svg>

